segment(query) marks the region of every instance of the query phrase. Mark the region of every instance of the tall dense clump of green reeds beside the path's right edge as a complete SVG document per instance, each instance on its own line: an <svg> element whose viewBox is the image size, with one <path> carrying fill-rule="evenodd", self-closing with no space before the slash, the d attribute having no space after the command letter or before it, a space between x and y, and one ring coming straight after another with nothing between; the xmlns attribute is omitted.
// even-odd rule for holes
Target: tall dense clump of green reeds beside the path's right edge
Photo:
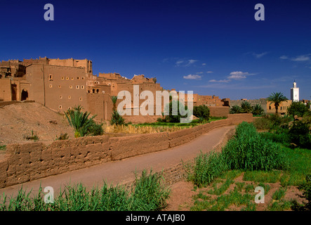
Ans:
<svg viewBox="0 0 311 225"><path fill-rule="evenodd" d="M242 122L221 153L200 153L194 158L194 163L190 162L184 167L188 181L201 186L210 184L228 169L289 169L289 162L277 143L261 137L253 124Z"/></svg>

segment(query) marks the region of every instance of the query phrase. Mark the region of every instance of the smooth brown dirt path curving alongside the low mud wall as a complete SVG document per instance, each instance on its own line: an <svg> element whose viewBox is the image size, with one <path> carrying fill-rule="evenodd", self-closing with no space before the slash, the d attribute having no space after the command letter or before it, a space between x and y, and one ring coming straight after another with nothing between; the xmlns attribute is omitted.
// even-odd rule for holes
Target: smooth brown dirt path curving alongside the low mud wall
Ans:
<svg viewBox="0 0 311 225"><path fill-rule="evenodd" d="M88 188L92 188L93 186L100 187L104 180L108 184L121 184L135 179L135 171L140 174L143 169L152 168L153 172L159 172L161 169L178 164L182 159L189 160L196 157L200 150L203 153L213 150L213 147L223 139L225 133L230 129L234 129L234 126L213 129L209 133L197 137L197 139L194 139L190 143L177 146L176 148L169 148L160 152L139 155L124 160L106 162L102 165L95 165L77 171L48 176L37 181L29 181L24 184L1 188L0 194L6 193L10 196L11 194L17 193L21 186L24 190L27 189L27 191L30 191L32 189L33 193L37 193L40 184L43 188L46 186L53 187L55 194L65 185L77 184L79 182Z"/></svg>

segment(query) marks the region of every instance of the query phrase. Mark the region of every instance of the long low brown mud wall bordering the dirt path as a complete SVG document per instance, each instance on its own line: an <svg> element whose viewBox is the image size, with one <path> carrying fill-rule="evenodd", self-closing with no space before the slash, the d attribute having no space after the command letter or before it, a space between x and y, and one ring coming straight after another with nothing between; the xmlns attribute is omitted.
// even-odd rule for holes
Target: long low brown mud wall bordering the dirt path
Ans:
<svg viewBox="0 0 311 225"><path fill-rule="evenodd" d="M241 114L227 120L175 132L139 134L133 136L88 136L71 140L44 143L20 143L6 146L6 154L0 158L0 188L22 184L46 176L121 160L135 155L165 150L205 134L216 127L252 122L250 115Z"/></svg>

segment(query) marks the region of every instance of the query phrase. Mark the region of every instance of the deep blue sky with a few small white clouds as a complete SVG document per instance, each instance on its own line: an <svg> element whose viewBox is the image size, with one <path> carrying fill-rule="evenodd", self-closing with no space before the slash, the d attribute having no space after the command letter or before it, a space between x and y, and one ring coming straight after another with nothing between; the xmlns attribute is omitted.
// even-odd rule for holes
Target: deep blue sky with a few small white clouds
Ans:
<svg viewBox="0 0 311 225"><path fill-rule="evenodd" d="M53 4L54 21L44 20ZM256 21L256 4L265 20ZM311 1L1 0L0 60L88 58L93 73L157 77L220 98L311 98Z"/></svg>

